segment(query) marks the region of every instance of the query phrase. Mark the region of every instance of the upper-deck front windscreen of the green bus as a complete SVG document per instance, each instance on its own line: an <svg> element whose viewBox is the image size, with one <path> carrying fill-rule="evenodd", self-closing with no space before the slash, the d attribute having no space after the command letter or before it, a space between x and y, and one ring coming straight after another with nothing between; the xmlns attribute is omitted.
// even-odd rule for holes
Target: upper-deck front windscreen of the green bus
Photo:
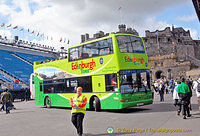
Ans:
<svg viewBox="0 0 200 136"><path fill-rule="evenodd" d="M117 36L117 42L121 53L145 53L142 40L135 36Z"/></svg>

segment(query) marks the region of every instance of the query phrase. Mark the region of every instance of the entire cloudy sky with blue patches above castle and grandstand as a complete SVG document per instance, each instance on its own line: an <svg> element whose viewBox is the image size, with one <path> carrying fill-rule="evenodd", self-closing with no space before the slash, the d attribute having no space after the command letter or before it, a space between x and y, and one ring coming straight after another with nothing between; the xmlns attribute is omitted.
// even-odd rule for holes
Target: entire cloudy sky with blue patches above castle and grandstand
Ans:
<svg viewBox="0 0 200 136"><path fill-rule="evenodd" d="M145 36L145 30L163 30L173 24L190 30L193 39L200 37L191 0L0 0L2 22L12 27L0 27L1 35L18 35L56 48L80 43L81 34L118 31L120 23L133 27L140 36ZM18 29L13 29L16 25ZM19 31L21 28L24 31Z"/></svg>

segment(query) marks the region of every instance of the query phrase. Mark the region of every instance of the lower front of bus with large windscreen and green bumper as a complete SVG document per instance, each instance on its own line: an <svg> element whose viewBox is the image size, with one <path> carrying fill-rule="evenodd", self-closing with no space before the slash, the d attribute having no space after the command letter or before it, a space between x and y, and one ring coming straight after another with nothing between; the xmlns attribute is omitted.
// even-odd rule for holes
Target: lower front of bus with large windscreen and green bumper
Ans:
<svg viewBox="0 0 200 136"><path fill-rule="evenodd" d="M121 70L119 86L119 109L153 103L149 70Z"/></svg>

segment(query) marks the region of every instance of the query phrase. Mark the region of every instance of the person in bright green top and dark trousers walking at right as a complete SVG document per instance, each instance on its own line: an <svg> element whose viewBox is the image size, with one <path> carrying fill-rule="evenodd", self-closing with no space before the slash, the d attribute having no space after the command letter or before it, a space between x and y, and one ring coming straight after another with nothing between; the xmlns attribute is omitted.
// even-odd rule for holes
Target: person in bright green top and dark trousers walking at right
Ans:
<svg viewBox="0 0 200 136"><path fill-rule="evenodd" d="M183 119L186 119L186 112L187 112L187 117L191 117L190 114L190 110L189 110L189 93L190 93L190 89L189 86L185 83L185 78L182 78L182 82L181 84L178 86L178 94L179 94L179 98L182 101L182 105L183 105Z"/></svg>

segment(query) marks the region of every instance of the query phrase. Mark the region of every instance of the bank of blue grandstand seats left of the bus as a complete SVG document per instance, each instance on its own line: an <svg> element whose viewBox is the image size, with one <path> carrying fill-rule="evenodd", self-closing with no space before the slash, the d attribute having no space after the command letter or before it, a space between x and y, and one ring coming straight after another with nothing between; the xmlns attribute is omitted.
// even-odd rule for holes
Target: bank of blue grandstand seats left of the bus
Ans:
<svg viewBox="0 0 200 136"><path fill-rule="evenodd" d="M30 75L33 73L32 64L34 63L34 61L42 60L54 60L54 58L0 50L0 70L3 71L3 73L6 73L8 76L19 79L21 82L27 85L29 85L29 78ZM13 90L21 87L20 84L15 83L12 78L8 78L3 73L0 73L1 81L13 85Z"/></svg>

